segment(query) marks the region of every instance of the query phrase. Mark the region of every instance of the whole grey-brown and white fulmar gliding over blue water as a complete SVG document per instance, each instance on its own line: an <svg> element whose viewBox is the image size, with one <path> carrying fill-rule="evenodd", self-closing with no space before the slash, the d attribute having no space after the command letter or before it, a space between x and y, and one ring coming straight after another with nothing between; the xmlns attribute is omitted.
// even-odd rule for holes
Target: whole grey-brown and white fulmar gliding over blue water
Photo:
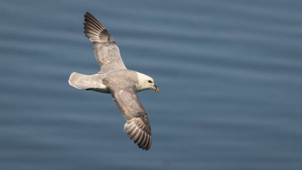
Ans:
<svg viewBox="0 0 302 170"><path fill-rule="evenodd" d="M136 92L153 89L151 77L128 70L119 54L113 37L89 12L84 15L85 36L93 42L94 54L101 70L94 75L72 73L69 84L78 88L111 93L115 104L126 120L124 131L142 149L151 146L151 126L147 112Z"/></svg>

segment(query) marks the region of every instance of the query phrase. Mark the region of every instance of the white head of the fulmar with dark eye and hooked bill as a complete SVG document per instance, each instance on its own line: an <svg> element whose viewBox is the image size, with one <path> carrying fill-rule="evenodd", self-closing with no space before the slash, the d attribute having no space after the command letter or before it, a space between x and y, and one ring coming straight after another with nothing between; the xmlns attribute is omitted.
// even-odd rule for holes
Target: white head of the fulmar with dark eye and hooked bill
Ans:
<svg viewBox="0 0 302 170"><path fill-rule="evenodd" d="M138 83L136 85L136 91L143 91L148 89L153 89L156 92L159 91L156 85L154 85L154 81L151 77L144 75L142 73L136 72L138 77Z"/></svg>

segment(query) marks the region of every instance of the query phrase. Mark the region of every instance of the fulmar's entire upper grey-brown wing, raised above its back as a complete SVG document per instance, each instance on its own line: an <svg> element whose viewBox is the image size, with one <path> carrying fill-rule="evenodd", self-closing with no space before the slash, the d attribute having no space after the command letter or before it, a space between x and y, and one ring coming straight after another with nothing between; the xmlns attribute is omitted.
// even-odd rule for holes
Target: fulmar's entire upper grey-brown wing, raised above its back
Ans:
<svg viewBox="0 0 302 170"><path fill-rule="evenodd" d="M113 37L105 27L89 12L84 15L85 36L93 42L94 55L99 63L100 73L126 69Z"/></svg>

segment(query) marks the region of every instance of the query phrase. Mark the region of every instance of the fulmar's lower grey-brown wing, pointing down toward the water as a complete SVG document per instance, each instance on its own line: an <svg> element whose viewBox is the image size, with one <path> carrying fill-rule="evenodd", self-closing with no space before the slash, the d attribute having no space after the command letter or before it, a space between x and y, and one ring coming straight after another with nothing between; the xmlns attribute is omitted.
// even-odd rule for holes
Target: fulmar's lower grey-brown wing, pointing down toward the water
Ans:
<svg viewBox="0 0 302 170"><path fill-rule="evenodd" d="M124 131L142 149L151 146L151 126L147 112L133 87L110 88L113 100L123 114L126 124Z"/></svg>

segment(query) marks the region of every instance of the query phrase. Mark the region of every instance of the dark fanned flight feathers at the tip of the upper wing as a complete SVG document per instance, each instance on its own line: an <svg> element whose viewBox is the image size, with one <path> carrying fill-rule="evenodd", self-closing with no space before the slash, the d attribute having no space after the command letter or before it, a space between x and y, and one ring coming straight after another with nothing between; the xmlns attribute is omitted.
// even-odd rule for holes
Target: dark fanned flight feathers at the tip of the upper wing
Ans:
<svg viewBox="0 0 302 170"><path fill-rule="evenodd" d="M114 42L106 28L91 13L84 15L84 33L92 42Z"/></svg>

